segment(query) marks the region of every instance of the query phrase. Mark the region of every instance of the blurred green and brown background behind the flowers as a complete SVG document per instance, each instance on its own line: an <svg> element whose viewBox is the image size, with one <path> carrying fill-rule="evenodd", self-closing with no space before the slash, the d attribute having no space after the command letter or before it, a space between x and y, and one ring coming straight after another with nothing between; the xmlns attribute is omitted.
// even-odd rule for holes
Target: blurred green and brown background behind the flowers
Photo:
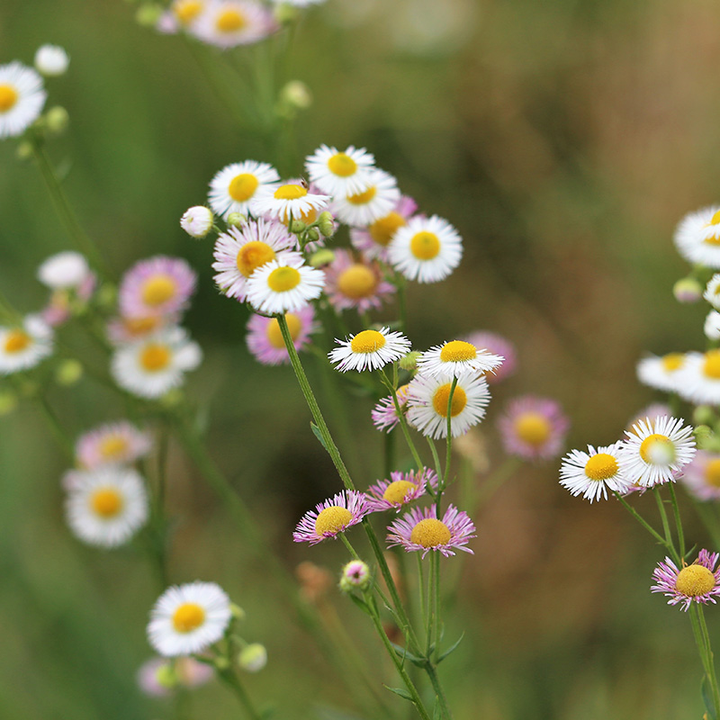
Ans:
<svg viewBox="0 0 720 720"><path fill-rule="evenodd" d="M569 447L608 444L653 400L635 381L638 357L704 346L705 311L671 295L687 271L671 234L685 212L718 200L718 23L709 0L329 0L293 39L283 79L302 79L314 103L298 117L295 157L279 159L238 126L183 40L139 27L119 0L4 0L0 63L31 64L46 42L67 49L67 76L47 85L70 128L49 152L69 171L85 229L118 275L158 253L187 258L201 275L186 324L206 360L188 392L208 403L211 453L289 568L310 560L336 573L341 546L290 541L302 513L338 489L332 466L291 372L248 356L247 311L216 292L211 242L183 233L183 211L205 201L211 176L230 162L273 159L297 174L321 142L368 148L465 240L455 275L411 288L415 347L473 329L518 347L519 372L498 386L482 426L493 463L502 460L495 420L525 392L563 403ZM257 67L262 52L238 49L223 62ZM240 91L233 100L251 102ZM0 284L19 309L36 311L46 295L35 268L69 243L15 146L0 144ZM350 464L365 487L382 473L372 402L338 400L362 444ZM122 412L91 381L50 401L72 436ZM331 419L336 427L338 414ZM270 657L247 677L253 698L275 699L288 718L356 712L225 510L171 449L172 580L218 581L247 610L247 639ZM66 463L32 403L0 419L0 457L0 715L173 716L134 680L151 654L144 628L159 592L147 564L69 535ZM523 466L474 518L474 556L454 561L463 574L446 637L467 635L442 672L456 718L699 718L689 619L649 593L662 552L617 503L571 498L558 466ZM654 517L652 499L636 504ZM690 541L707 546L686 509ZM334 590L329 602L377 678L399 684L366 618ZM715 615L709 608L718 644ZM188 717L238 716L216 685L192 703Z"/></svg>

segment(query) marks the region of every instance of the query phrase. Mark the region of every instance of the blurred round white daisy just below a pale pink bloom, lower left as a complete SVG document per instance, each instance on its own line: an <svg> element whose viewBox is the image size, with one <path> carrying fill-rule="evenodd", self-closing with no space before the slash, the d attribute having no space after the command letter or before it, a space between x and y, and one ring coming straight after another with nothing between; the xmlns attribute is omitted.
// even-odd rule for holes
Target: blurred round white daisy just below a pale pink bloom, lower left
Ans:
<svg viewBox="0 0 720 720"><path fill-rule="evenodd" d="M88 545L122 545L148 520L145 483L131 468L76 471L65 486L67 525Z"/></svg>

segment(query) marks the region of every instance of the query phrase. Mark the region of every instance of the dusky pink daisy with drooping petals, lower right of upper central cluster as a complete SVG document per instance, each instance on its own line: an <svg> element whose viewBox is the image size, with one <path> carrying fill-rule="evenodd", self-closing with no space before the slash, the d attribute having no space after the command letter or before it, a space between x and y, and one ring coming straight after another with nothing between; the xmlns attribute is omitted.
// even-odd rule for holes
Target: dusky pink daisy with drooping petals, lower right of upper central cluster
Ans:
<svg viewBox="0 0 720 720"><path fill-rule="evenodd" d="M379 308L385 296L395 293L395 286L383 280L377 263L356 260L344 249L335 251L335 259L325 269L325 278L325 292L338 311Z"/></svg>

